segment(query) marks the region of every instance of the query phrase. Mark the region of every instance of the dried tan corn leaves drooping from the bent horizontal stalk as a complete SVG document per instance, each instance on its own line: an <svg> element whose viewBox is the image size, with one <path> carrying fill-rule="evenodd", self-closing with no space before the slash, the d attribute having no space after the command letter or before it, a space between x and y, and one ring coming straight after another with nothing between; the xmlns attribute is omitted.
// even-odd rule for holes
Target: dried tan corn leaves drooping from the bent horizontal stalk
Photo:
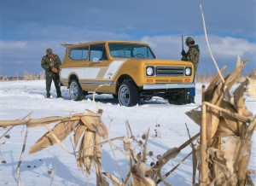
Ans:
<svg viewBox="0 0 256 186"><path fill-rule="evenodd" d="M77 148L79 145L77 165L87 174L90 174L90 166L94 163L98 171L97 174L102 175L100 169L102 150L101 146L96 144L101 143L101 137L108 137L108 130L102 123L101 114L102 111L93 113L88 110L87 114L76 114L72 117L61 119L51 131L45 133L43 137L40 137L32 145L29 154L37 153L57 143L61 144L63 140L74 132L74 147ZM63 147L62 144L61 147Z"/></svg>

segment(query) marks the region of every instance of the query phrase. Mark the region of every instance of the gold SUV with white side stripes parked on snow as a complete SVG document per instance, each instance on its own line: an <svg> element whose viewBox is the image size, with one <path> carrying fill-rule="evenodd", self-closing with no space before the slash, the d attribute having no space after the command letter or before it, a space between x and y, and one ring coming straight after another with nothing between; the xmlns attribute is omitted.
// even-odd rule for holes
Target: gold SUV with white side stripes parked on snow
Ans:
<svg viewBox="0 0 256 186"><path fill-rule="evenodd" d="M101 41L62 44L66 55L61 65L61 84L72 100L80 101L96 90L112 94L127 107L160 96L170 103L187 102L194 67L188 61L156 59L148 44Z"/></svg>

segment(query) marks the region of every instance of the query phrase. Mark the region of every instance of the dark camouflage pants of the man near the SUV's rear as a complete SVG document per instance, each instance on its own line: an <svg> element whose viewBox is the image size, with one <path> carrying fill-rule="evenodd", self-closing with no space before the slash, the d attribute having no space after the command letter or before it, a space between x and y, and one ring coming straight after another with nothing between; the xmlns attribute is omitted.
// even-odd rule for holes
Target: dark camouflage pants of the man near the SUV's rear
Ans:
<svg viewBox="0 0 256 186"><path fill-rule="evenodd" d="M61 97L61 87L59 85L59 82L60 82L59 73L52 73L51 75L47 73L45 74L45 80L46 80L46 96L50 96L49 91L50 91L51 82L54 81L57 97Z"/></svg>

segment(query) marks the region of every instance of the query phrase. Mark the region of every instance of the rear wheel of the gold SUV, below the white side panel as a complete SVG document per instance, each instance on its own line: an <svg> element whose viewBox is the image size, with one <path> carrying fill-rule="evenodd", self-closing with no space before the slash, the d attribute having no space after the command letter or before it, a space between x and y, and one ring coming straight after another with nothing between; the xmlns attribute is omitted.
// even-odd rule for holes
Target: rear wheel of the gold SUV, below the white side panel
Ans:
<svg viewBox="0 0 256 186"><path fill-rule="evenodd" d="M81 101L84 99L84 91L76 79L71 81L69 86L69 96L73 101Z"/></svg>

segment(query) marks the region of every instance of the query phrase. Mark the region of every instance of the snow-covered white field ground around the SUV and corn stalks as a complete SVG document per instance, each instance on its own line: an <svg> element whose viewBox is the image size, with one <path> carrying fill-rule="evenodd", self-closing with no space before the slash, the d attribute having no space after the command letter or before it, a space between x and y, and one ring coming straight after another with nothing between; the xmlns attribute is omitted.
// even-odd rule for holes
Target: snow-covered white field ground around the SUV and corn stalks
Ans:
<svg viewBox="0 0 256 186"><path fill-rule="evenodd" d="M102 119L109 128L109 138L126 135L126 119L137 139L141 139L143 133L146 133L150 127L148 151L153 151L154 156L152 160L148 158L149 165L156 160L157 154L163 154L169 148L178 147L189 139L185 124L189 127L191 137L199 132L199 126L185 114L201 103L201 84L196 86L195 105L176 106L160 97L154 97L148 102L140 102L136 107L125 108L120 107L118 102L108 95L96 96L96 104L104 111ZM0 82L0 117L2 120L22 119L28 113L33 112L31 118L39 119L48 116L68 116L70 113L84 113L85 109L96 112L96 106L91 101L92 96L86 96L82 102L73 102L64 87L61 87L61 91L64 99L46 99L44 80ZM52 87L52 95L56 96L54 87ZM247 107L255 114L256 104L253 102L253 98L247 96L246 103ZM156 127L156 125L160 126ZM155 137L155 130L158 137ZM0 128L0 137L5 131L7 129ZM17 185L18 183L16 170L25 131L24 126L15 126L9 132L9 138L2 137L0 139L0 185ZM22 185L96 185L94 169L91 170L90 176L84 175L77 168L74 156L67 154L59 145L45 148L36 154L28 154L32 144L45 132L44 127L29 128L26 150L20 165ZM255 136L254 134L250 162L250 168L254 170L256 169ZM69 137L63 143L70 152L73 151L72 141ZM121 144L119 145L121 146ZM135 144L134 146L137 147ZM170 171L190 151L190 147L184 148L176 159L164 166L162 174ZM49 174L49 171L52 173ZM112 151L108 144L102 148L102 171L108 171L119 179L125 177L128 172L125 156L120 154L119 150ZM255 184L255 177L253 180ZM167 177L166 182L172 185L191 185L191 157Z"/></svg>

